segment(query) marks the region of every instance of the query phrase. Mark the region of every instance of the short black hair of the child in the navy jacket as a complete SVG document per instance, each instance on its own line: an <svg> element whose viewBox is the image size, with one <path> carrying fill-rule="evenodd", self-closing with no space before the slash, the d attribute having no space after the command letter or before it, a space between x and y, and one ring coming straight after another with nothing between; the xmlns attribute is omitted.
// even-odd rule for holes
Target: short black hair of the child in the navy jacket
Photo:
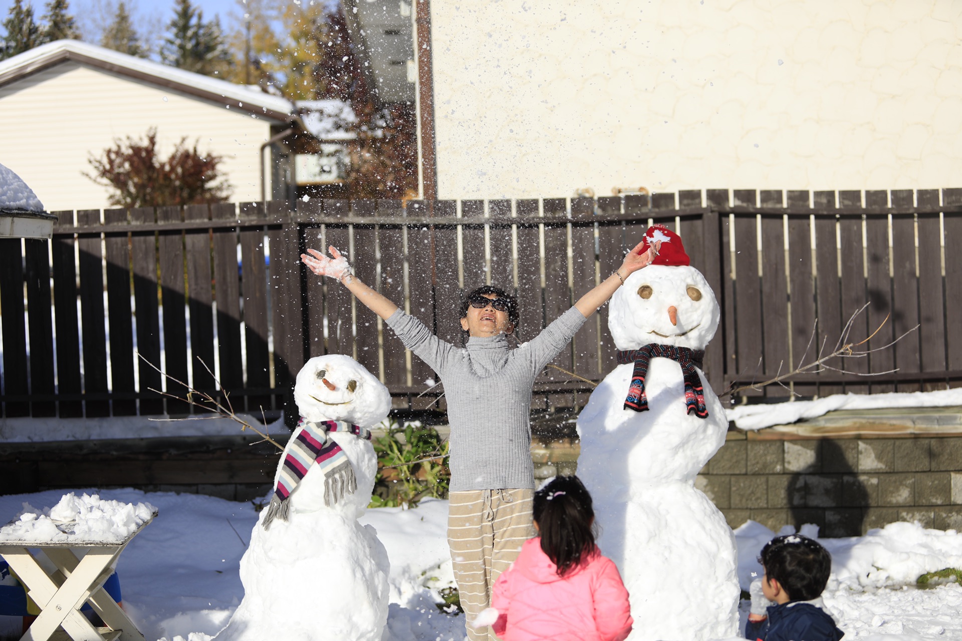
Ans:
<svg viewBox="0 0 962 641"><path fill-rule="evenodd" d="M776 536L762 548L758 562L777 580L791 601L811 601L825 589L832 556L821 543L801 534Z"/></svg>

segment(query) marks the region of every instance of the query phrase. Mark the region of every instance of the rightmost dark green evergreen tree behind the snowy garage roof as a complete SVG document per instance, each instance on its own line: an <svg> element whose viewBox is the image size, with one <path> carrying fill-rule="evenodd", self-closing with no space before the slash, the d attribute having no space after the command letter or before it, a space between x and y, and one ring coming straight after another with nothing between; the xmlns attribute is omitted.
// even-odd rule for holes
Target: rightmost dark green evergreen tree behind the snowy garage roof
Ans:
<svg viewBox="0 0 962 641"><path fill-rule="evenodd" d="M177 0L169 36L161 47L161 60L181 69L214 75L228 67L230 52L218 19L204 21L204 12L190 0Z"/></svg>

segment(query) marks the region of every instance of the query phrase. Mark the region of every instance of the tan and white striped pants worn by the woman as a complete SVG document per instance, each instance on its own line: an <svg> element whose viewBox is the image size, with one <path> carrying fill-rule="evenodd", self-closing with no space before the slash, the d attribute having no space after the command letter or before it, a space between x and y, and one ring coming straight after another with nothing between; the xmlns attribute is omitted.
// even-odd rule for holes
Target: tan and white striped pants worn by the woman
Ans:
<svg viewBox="0 0 962 641"><path fill-rule="evenodd" d="M473 629L470 624L491 604L494 581L518 557L521 544L535 535L533 496L530 489L497 489L451 492L448 497L447 544L470 641L497 639L490 628Z"/></svg>

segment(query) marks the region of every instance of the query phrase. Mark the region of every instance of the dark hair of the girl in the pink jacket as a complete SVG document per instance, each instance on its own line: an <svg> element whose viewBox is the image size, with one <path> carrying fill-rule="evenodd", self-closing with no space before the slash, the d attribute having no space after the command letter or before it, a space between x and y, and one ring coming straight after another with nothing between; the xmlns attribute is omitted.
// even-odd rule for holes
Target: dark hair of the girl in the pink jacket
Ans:
<svg viewBox="0 0 962 641"><path fill-rule="evenodd" d="M564 577L595 554L595 510L592 495L577 477L555 477L535 492L534 519L542 550Z"/></svg>

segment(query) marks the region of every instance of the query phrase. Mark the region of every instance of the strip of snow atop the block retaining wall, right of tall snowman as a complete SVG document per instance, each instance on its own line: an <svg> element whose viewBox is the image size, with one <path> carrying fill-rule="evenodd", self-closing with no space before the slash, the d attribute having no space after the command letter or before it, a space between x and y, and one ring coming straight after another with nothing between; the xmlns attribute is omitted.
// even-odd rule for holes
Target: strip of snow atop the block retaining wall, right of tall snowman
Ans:
<svg viewBox="0 0 962 641"><path fill-rule="evenodd" d="M727 414L728 420L733 421L739 430L761 430L772 425L789 425L806 418L818 418L836 409L954 406L962 406L962 388L933 392L833 394L814 401L731 407Z"/></svg>

